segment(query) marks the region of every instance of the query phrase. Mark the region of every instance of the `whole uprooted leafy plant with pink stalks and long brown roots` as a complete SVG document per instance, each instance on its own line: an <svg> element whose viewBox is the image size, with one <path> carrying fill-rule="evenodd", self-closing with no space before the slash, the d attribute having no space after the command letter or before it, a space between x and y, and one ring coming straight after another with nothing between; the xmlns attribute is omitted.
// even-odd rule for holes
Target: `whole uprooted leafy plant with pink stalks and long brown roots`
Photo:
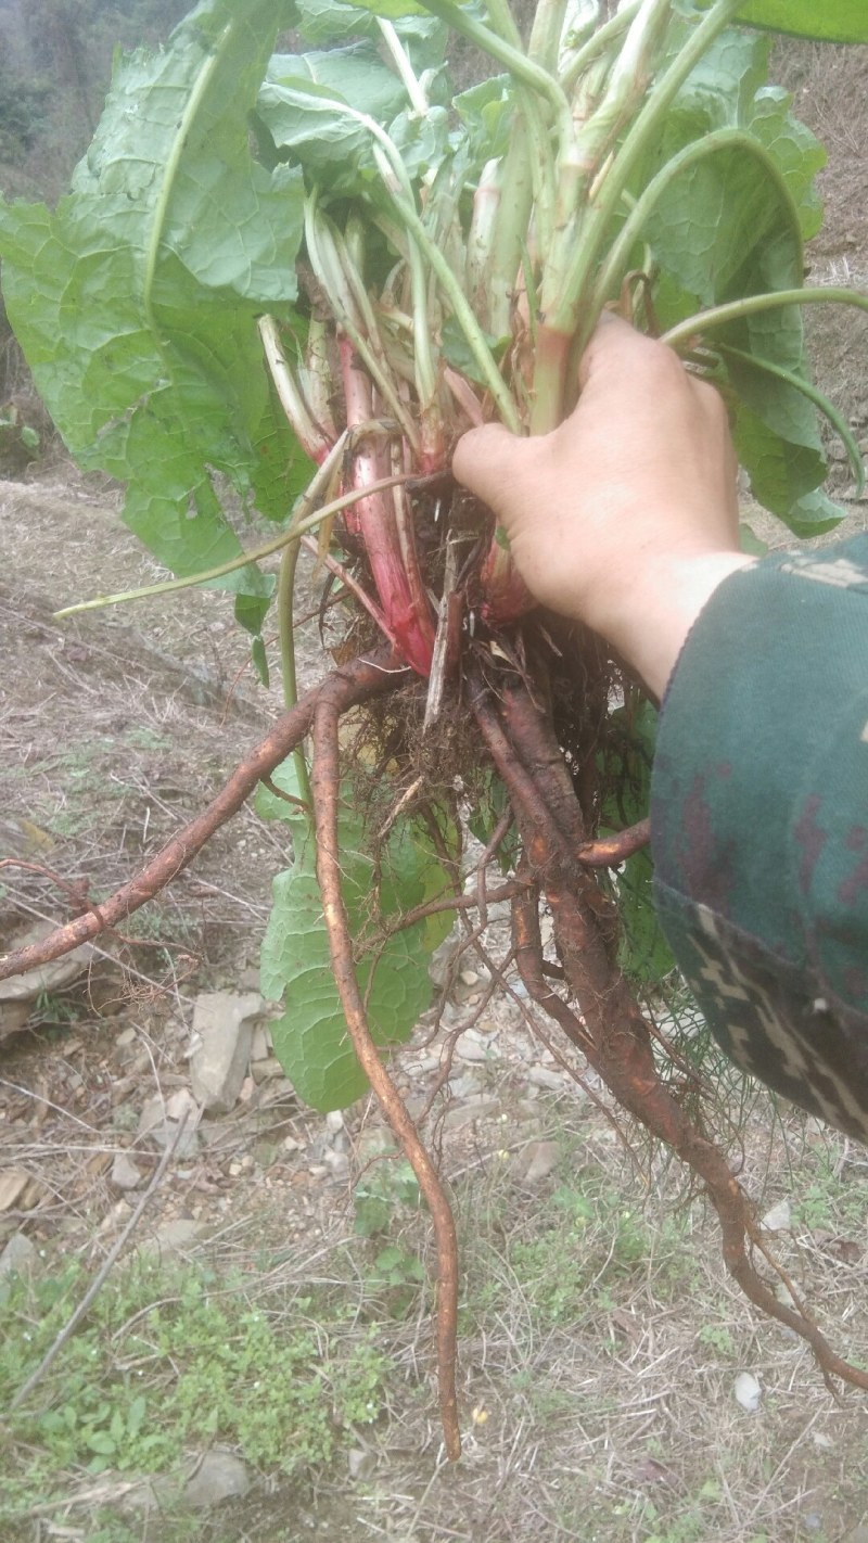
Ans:
<svg viewBox="0 0 868 1543"><path fill-rule="evenodd" d="M808 0L540 0L527 43L507 0L202 0L163 52L122 62L59 208L0 204L6 304L37 386L80 464L128 483L125 522L177 576L139 593L233 593L261 674L276 600L287 705L142 873L0 974L114 926L254 790L288 824L262 950L264 991L285 1003L274 1046L319 1109L370 1083L413 1165L452 1457L455 1230L381 1051L429 1004L444 918L492 964L493 898L510 901L527 995L698 1176L751 1301L826 1376L868 1387L791 1282L782 1302L757 1270L751 1207L637 1000L637 977L671 969L643 850L652 704L600 640L530 606L503 532L449 474L469 424L555 427L617 306L726 393L768 509L797 534L840 517L817 409L859 486L862 463L809 381L800 306L868 301L803 287L823 153L766 85L768 39L732 26L783 9L791 29L868 39L849 0L820 22ZM311 51L273 52L290 26ZM458 96L450 29L498 71ZM227 486L274 523L270 542L242 549ZM299 699L302 545L348 662ZM274 552L276 582L257 566ZM467 830L484 849L472 890Z"/></svg>

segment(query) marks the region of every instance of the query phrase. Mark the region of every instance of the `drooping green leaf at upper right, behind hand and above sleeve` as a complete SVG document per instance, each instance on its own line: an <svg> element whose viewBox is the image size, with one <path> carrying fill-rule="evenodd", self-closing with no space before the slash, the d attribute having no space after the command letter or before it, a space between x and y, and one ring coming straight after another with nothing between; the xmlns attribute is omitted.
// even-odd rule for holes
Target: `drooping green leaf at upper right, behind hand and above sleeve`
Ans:
<svg viewBox="0 0 868 1543"><path fill-rule="evenodd" d="M672 29L672 51L686 26ZM820 222L812 182L825 151L792 117L786 93L765 85L768 48L765 39L723 32L681 86L646 159L644 182L688 147L708 140L711 150L709 136L720 130L759 145L749 153L720 140L723 148L692 160L669 184L648 221L664 327L706 306L802 284L802 242ZM809 384L808 393L797 386L809 383L799 312L768 310L717 336L745 355L726 355L726 375L738 398L735 441L754 495L791 529L823 523L831 515L828 509L820 515L811 498L826 461ZM766 369L754 367L751 355ZM775 376L768 366L783 373Z"/></svg>

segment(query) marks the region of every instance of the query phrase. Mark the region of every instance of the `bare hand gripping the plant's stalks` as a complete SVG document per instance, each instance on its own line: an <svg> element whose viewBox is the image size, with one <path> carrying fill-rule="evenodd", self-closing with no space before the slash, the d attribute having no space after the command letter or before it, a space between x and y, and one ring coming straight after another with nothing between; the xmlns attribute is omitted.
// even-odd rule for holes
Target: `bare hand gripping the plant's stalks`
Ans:
<svg viewBox="0 0 868 1543"><path fill-rule="evenodd" d="M553 434L498 424L458 443L458 481L506 526L543 605L603 633L663 694L681 643L738 551L735 454L712 386L661 343L606 316Z"/></svg>

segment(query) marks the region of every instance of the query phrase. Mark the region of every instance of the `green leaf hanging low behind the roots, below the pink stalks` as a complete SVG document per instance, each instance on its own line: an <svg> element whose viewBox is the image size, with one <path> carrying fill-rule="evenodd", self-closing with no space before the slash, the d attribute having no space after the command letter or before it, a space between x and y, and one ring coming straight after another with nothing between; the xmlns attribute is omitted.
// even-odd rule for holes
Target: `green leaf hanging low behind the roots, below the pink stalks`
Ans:
<svg viewBox="0 0 868 1543"><path fill-rule="evenodd" d="M285 762L274 781L298 796L294 767ZM322 900L310 827L304 813L267 788L256 807L293 832L294 863L273 886L273 909L262 943L262 991L284 1000L284 1015L271 1025L274 1054L299 1096L315 1109L341 1109L367 1091L350 1037L328 957ZM410 826L396 829L381 853L379 869L365 850L362 821L347 798L339 821L342 892L353 937L384 918L421 904L449 889L427 836ZM382 949L361 949L358 981L376 1045L402 1045L430 1001L429 960L449 932L444 912L404 932Z"/></svg>

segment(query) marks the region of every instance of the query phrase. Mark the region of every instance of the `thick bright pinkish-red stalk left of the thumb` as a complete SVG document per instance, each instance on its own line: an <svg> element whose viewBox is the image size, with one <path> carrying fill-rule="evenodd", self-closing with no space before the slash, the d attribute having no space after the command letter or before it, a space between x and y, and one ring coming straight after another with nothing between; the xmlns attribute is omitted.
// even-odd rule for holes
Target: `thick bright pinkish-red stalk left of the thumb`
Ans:
<svg viewBox="0 0 868 1543"><path fill-rule="evenodd" d="M373 418L373 387L355 363L353 344L341 338L341 378L347 406L347 427ZM368 447L370 446L370 447ZM368 440L353 455L353 486L365 488L389 475L384 451ZM372 494L355 505L352 526L365 545L370 571L376 585L385 623L401 654L416 674L429 676L433 654L433 620L427 596L413 596L407 577L392 500L387 494ZM422 605L418 608L416 600Z"/></svg>

